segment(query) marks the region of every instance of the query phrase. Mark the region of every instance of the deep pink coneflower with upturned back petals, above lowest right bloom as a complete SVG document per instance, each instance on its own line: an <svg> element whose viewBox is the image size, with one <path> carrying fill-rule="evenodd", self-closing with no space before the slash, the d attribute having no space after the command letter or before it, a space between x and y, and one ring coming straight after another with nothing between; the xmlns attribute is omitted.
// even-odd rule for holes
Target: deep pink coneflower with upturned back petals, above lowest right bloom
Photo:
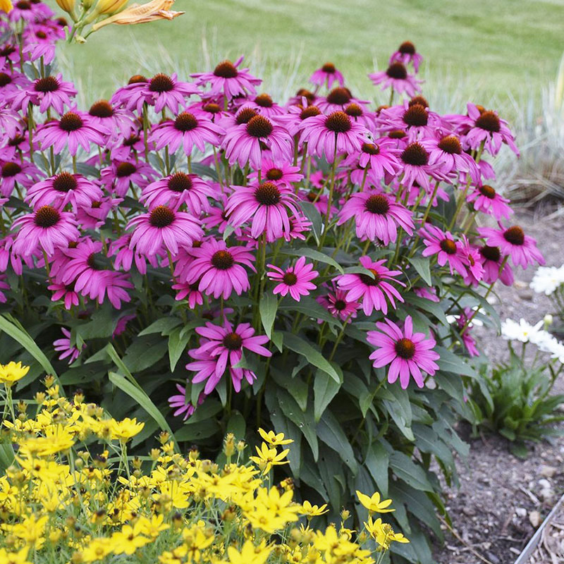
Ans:
<svg viewBox="0 0 564 564"><path fill-rule="evenodd" d="M374 309L386 315L388 313L386 298L393 309L396 309L395 300L403 302L403 298L398 290L391 283L386 282L386 280L392 281L401 272L398 270L388 270L384 266L384 262L386 262L386 259L372 261L370 257L360 257L360 264L372 272L374 278L369 276L369 274L343 274L336 278L338 287L348 292L347 299L349 301L354 302L362 298L362 310L366 315L370 315ZM403 282L398 280L395 282L405 287Z"/></svg>

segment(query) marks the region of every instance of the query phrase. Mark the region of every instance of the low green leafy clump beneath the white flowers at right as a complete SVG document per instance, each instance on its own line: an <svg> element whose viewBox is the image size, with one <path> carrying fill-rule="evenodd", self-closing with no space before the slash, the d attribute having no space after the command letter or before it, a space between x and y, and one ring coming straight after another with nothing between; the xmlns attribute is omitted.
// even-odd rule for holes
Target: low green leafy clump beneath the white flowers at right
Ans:
<svg viewBox="0 0 564 564"><path fill-rule="evenodd" d="M551 364L527 367L513 348L508 362L483 364L468 400L475 416L474 434L479 428L499 433L521 457L527 455L527 442L561 434L554 424L564 421L564 415L556 415L564 394L551 394L556 376Z"/></svg>

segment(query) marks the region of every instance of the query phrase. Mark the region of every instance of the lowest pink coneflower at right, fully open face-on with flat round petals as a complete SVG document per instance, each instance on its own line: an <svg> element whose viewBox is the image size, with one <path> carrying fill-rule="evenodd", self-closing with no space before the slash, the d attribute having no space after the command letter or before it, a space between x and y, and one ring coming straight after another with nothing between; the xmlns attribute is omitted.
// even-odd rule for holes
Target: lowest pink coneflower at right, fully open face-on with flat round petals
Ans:
<svg viewBox="0 0 564 564"><path fill-rule="evenodd" d="M374 347L369 358L375 368L388 366L388 382L393 384L399 377L400 385L405 390L410 382L410 376L415 384L422 388L424 385L422 372L433 376L439 365L439 353L434 346L436 342L432 336L426 338L425 333L413 333L411 316L405 318L403 330L390 319L377 321L378 331L368 331L367 341Z"/></svg>

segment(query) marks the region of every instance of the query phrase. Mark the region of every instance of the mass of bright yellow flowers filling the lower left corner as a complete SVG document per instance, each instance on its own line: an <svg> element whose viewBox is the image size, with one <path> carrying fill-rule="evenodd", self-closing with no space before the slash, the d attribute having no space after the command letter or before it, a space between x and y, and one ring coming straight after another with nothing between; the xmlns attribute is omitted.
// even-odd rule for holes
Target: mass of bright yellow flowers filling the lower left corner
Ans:
<svg viewBox="0 0 564 564"><path fill-rule="evenodd" d="M0 367L4 386L27 367ZM326 504L298 503L291 481L271 482L272 465L283 464L292 443L259 429L264 442L250 460L243 441L228 434L223 464L197 450L180 454L165 431L147 462L128 454L143 429L135 419L116 421L80 394L59 394L52 376L35 402L20 401L13 415L5 403L2 436L10 464L0 475L2 562L91 563L116 555L128 562L160 564L336 562L374 563L391 543L409 542L372 514L380 502L359 492L370 512L358 534L345 526L314 529ZM1 389L1 388L0 388ZM31 403L37 415L27 416ZM7 448L6 448L7 447ZM13 447L13 448L12 448ZM372 501L367 504L366 500ZM378 502L378 503L376 503Z"/></svg>

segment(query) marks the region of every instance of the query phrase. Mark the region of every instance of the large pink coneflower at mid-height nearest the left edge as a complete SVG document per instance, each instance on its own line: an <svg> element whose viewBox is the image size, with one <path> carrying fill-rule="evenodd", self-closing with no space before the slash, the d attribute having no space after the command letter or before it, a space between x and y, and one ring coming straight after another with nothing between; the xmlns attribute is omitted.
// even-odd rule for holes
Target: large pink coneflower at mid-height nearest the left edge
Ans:
<svg viewBox="0 0 564 564"><path fill-rule="evenodd" d="M42 206L13 222L12 229L20 228L13 243L16 255L28 257L44 251L51 256L56 248L66 248L79 237L73 214L59 212L51 206Z"/></svg>

